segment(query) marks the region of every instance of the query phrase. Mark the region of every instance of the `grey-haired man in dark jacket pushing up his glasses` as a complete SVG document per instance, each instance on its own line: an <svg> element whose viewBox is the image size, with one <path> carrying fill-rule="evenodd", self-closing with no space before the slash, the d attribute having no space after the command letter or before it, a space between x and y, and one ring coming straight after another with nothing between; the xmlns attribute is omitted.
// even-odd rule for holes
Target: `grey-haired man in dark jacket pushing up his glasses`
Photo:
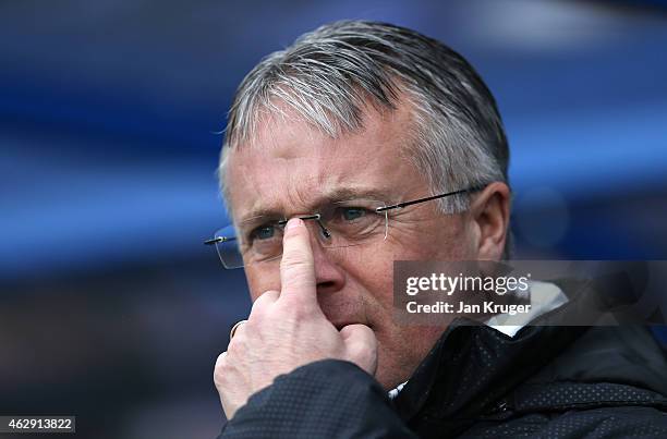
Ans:
<svg viewBox="0 0 667 439"><path fill-rule="evenodd" d="M211 240L254 302L215 366L221 437L667 435L646 330L535 325L567 285L512 331L393 318L395 260L508 256L508 160L480 76L413 31L333 23L255 66Z"/></svg>

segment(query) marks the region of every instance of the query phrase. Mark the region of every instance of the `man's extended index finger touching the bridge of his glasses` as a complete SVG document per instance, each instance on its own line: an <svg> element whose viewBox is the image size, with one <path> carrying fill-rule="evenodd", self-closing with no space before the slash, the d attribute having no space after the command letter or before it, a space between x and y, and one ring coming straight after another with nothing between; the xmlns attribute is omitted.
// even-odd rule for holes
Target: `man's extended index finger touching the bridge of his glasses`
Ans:
<svg viewBox="0 0 667 439"><path fill-rule="evenodd" d="M316 304L315 263L308 229L300 218L292 218L284 228L280 261L281 297L299 297Z"/></svg>

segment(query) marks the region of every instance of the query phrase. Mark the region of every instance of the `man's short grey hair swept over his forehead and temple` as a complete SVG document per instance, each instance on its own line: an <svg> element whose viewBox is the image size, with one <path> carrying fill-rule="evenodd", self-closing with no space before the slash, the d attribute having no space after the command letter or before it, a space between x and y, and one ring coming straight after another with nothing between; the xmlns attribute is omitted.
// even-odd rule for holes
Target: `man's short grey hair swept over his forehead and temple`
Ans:
<svg viewBox="0 0 667 439"><path fill-rule="evenodd" d="M229 112L219 167L222 195L229 199L228 151L252 142L263 114L284 114L280 105L338 138L363 129L368 105L392 111L403 97L414 125L410 156L434 193L508 182L500 114L463 57L404 27L341 21L304 34L245 76ZM466 194L446 197L439 206L458 212L469 199Z"/></svg>

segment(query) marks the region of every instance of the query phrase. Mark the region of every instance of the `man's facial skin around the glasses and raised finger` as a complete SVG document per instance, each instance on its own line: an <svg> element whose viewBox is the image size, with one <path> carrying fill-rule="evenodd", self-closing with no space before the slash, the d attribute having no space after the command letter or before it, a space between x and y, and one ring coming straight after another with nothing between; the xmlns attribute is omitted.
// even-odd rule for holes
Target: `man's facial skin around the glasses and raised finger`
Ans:
<svg viewBox="0 0 667 439"><path fill-rule="evenodd" d="M303 122L268 121L252 145L242 145L229 157L227 184L234 222L257 210L287 218L315 212L341 190L387 205L430 195L423 173L407 156L410 123L407 106L386 114L369 111L362 132L332 139ZM373 195L364 196L368 193ZM363 324L375 332L376 378L385 388L407 380L444 327L395 321L393 260L475 259L472 221L466 214L439 214L436 202L428 202L390 211L386 240L345 248L323 248L316 224L310 225L323 312L338 329ZM245 267L253 301L265 291L280 291L279 264L274 259Z"/></svg>

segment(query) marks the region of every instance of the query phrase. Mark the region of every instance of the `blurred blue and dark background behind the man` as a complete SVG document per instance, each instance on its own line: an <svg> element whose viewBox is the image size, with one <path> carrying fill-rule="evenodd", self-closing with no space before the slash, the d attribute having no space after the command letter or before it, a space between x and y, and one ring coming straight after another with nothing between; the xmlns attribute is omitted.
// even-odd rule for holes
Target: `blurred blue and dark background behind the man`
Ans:
<svg viewBox="0 0 667 439"><path fill-rule="evenodd" d="M202 241L244 74L339 19L466 57L510 139L517 257L667 258L665 1L0 3L0 413L213 438L250 309Z"/></svg>

